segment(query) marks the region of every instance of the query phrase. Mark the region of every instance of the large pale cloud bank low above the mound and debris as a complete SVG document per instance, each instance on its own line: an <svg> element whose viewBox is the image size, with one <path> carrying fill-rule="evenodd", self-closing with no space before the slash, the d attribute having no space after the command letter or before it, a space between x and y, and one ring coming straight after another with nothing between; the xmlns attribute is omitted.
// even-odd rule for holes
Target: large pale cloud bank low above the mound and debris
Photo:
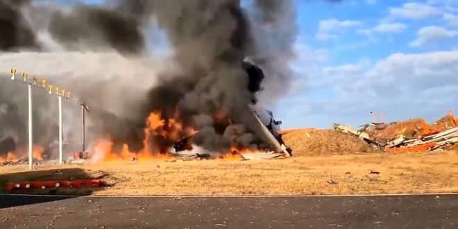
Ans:
<svg viewBox="0 0 458 229"><path fill-rule="evenodd" d="M296 95L293 103L305 103L307 110L288 115L303 120L315 117L321 126L332 122L356 126L370 122L373 110L383 111L387 121L413 117L435 121L446 109L458 110L458 51L396 53L373 66L362 61L326 67L323 75L330 79L327 85L315 88L332 87L334 96L320 100L304 96L301 101Z"/></svg>

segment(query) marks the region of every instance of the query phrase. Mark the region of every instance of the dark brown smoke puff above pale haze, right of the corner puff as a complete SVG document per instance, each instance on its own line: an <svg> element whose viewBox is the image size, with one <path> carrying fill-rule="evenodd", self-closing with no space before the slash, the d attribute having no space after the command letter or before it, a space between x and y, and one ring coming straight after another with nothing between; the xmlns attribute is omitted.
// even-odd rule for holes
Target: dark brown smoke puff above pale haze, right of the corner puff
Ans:
<svg viewBox="0 0 458 229"><path fill-rule="evenodd" d="M108 46L127 54L145 51L141 29L135 17L83 5L71 12L55 12L49 25L51 35L66 49L101 51Z"/></svg>

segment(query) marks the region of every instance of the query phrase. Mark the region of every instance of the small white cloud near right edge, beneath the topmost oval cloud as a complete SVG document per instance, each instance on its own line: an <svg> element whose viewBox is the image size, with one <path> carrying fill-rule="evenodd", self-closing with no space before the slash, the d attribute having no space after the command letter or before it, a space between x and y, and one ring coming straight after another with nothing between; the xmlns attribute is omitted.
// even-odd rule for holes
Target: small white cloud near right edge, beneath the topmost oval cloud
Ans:
<svg viewBox="0 0 458 229"><path fill-rule="evenodd" d="M417 32L417 39L410 46L423 46L450 39L458 35L458 31L449 31L439 26L426 26Z"/></svg>

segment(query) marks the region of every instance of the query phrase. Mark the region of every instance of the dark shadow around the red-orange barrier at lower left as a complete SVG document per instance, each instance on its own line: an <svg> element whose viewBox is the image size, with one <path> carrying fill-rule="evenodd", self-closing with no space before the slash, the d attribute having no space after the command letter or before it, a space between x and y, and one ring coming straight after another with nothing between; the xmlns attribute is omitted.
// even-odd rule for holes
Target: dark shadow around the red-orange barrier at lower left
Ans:
<svg viewBox="0 0 458 229"><path fill-rule="evenodd" d="M6 173L0 175L0 192L2 194L33 194L33 195L51 195L51 196L15 196L0 195L0 209L6 207L16 207L34 203L44 203L49 201L59 201L72 196L52 196L52 195L90 195L99 188L69 188L57 187L46 189L13 189L8 190L8 183L15 182L35 182L49 180L91 180L101 179L107 174L102 171L85 171L84 169L51 169L45 171L26 171L19 173Z"/></svg>

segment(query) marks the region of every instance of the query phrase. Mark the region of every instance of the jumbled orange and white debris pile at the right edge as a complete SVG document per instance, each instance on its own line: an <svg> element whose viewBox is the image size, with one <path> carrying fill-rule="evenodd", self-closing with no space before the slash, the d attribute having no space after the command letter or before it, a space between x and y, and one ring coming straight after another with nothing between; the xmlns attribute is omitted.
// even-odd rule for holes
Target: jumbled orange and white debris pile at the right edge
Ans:
<svg viewBox="0 0 458 229"><path fill-rule="evenodd" d="M440 151L458 144L458 119L451 111L429 125L423 119L410 119L391 124L366 124L359 130L334 124L334 130L355 135L386 152Z"/></svg>

